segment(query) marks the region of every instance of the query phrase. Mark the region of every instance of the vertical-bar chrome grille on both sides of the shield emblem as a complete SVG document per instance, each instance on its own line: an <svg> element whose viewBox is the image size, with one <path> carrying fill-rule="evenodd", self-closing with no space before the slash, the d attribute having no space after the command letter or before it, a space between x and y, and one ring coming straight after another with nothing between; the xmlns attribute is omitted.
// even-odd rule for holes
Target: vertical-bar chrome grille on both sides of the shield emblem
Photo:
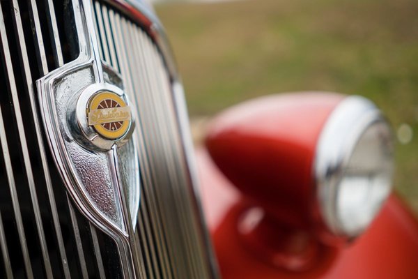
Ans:
<svg viewBox="0 0 418 279"><path fill-rule="evenodd" d="M114 6L93 6L102 59L137 109L140 277L212 278L162 53ZM38 117L33 84L77 57L72 22L69 0L0 1L0 278L121 278L114 242L68 199Z"/></svg>

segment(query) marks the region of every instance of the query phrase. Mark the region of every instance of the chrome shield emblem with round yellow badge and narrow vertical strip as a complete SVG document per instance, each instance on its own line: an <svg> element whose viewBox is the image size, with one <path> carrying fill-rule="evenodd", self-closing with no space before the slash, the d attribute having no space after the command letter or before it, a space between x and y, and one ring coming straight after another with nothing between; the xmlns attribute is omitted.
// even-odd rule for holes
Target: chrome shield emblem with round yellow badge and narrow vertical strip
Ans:
<svg viewBox="0 0 418 279"><path fill-rule="evenodd" d="M99 56L91 1L72 0L80 54L37 81L47 142L73 202L118 246L125 278L138 274L134 227L139 157L133 108Z"/></svg>

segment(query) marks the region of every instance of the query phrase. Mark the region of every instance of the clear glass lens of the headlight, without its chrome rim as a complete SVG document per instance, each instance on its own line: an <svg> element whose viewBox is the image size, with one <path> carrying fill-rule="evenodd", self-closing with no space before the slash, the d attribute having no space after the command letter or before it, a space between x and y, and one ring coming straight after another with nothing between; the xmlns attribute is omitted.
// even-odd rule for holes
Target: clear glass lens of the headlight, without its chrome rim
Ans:
<svg viewBox="0 0 418 279"><path fill-rule="evenodd" d="M387 123L371 124L359 138L337 186L336 217L349 236L363 232L392 188L394 169Z"/></svg>

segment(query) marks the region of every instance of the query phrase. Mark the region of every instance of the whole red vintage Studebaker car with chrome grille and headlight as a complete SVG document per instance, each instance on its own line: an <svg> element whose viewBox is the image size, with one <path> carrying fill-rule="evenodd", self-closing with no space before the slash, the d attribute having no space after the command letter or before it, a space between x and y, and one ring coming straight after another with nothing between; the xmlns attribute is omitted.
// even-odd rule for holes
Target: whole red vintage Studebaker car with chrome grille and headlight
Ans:
<svg viewBox="0 0 418 279"><path fill-rule="evenodd" d="M0 17L0 278L418 278L369 100L238 105L195 157L147 1L6 0Z"/></svg>

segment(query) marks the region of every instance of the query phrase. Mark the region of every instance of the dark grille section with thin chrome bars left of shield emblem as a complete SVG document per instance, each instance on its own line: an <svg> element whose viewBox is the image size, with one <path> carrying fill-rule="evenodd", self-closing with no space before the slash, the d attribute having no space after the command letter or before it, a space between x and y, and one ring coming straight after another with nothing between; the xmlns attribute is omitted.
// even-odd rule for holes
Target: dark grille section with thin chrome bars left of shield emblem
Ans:
<svg viewBox="0 0 418 279"><path fill-rule="evenodd" d="M102 262L117 262L113 243L68 199L38 118L34 82L77 56L64 24L70 8L68 1L0 2L1 278L119 273L118 264Z"/></svg>

